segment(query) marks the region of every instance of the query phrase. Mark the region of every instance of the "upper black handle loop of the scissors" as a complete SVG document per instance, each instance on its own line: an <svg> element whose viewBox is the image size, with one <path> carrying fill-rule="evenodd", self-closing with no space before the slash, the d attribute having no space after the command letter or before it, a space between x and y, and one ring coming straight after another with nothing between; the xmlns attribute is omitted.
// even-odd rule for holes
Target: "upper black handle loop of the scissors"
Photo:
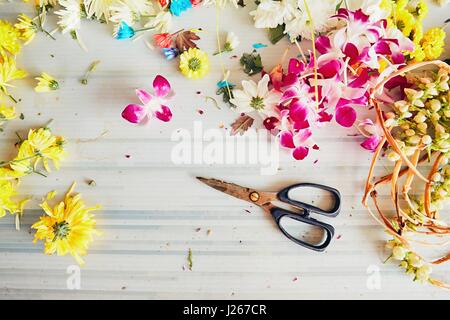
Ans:
<svg viewBox="0 0 450 320"><path fill-rule="evenodd" d="M297 201L297 200L292 200L291 198L289 198L289 191L291 191L293 189L307 188L307 187L328 191L333 196L333 200L334 200L333 208L331 208L330 210L323 210L321 208L312 206L308 203L304 203L304 202ZM285 202L285 203L288 203L295 207L304 209L306 211L306 214L309 214L309 212L315 212L315 213L322 214L322 215L325 215L328 217L336 217L339 214L339 211L341 210L341 194L340 194L340 192L335 188L332 188L329 186L324 186L321 184L316 184L316 183L294 184L294 185L286 187L283 190L281 190L280 192L278 192L277 196L278 196L278 199L282 202Z"/></svg>

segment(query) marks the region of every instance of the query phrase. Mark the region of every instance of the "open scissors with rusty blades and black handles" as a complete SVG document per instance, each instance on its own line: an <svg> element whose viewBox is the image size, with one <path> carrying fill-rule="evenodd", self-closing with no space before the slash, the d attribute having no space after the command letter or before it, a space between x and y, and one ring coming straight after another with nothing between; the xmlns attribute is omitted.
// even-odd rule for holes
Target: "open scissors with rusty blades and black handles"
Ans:
<svg viewBox="0 0 450 320"><path fill-rule="evenodd" d="M315 251L324 251L333 239L333 226L310 217L310 213L317 213L327 217L336 217L339 214L339 211L341 209L341 194L338 190L332 187L315 183L298 183L288 186L279 192L262 192L217 179L206 179L202 177L197 177L197 179L216 190L222 191L233 197L251 202L261 207L264 211L272 215L281 232L283 232L283 234L287 238L298 245ZM289 192L299 188L315 188L330 193L333 199L332 208L329 210L324 210L311 204L293 200L292 198L290 198ZM300 212L289 211L275 206L273 202L277 200L298 209ZM282 223L284 219L289 218L294 222L305 223L319 228L322 231L323 240L320 243L310 243L308 241L299 239L299 237L293 236L286 230Z"/></svg>

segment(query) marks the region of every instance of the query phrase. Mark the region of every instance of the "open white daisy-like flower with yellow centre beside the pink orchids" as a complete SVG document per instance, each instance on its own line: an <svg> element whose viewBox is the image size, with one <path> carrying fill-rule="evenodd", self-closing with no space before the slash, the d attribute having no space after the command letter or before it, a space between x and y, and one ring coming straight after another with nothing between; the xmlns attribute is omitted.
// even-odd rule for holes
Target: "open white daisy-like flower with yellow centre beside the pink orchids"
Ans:
<svg viewBox="0 0 450 320"><path fill-rule="evenodd" d="M281 93L269 90L269 81L268 74L265 74L258 83L253 80L242 81L242 90L233 90L234 98L230 99L236 106L236 111L261 120L276 116L274 108L280 101Z"/></svg>

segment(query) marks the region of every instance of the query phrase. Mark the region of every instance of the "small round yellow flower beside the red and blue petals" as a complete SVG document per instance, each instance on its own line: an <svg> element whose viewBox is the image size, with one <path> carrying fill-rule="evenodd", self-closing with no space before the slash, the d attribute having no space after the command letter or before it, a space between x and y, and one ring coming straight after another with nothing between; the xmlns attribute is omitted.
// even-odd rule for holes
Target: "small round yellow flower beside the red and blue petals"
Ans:
<svg viewBox="0 0 450 320"><path fill-rule="evenodd" d="M209 72L208 55L197 48L190 48L180 56L180 70L189 79L203 78Z"/></svg>

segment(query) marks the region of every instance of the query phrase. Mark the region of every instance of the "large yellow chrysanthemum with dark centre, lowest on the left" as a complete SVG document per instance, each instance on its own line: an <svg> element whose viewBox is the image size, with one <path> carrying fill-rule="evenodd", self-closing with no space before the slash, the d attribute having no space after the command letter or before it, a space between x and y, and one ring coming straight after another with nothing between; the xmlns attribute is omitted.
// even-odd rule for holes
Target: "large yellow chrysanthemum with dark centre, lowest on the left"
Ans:
<svg viewBox="0 0 450 320"><path fill-rule="evenodd" d="M100 235L95 229L96 221L91 213L100 209L100 206L86 207L80 194L72 195L74 187L75 183L67 192L64 201L53 208L47 202L54 196L54 193L51 193L41 204L46 215L40 217L31 228L36 229L34 242L44 241L45 254L70 254L83 265L81 257L87 254L93 236Z"/></svg>

